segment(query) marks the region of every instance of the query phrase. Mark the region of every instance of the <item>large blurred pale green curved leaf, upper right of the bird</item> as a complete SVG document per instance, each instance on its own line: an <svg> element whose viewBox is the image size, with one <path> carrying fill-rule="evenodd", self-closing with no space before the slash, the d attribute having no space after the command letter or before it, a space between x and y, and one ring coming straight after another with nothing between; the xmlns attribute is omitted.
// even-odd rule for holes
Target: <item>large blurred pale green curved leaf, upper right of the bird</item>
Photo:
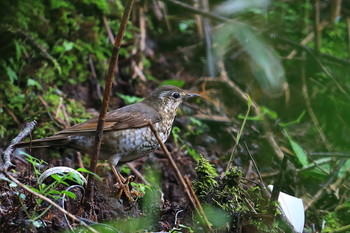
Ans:
<svg viewBox="0 0 350 233"><path fill-rule="evenodd" d="M264 42L248 24L229 21L214 31L214 48L223 59L228 51L235 51L237 42L249 56L247 62L261 89L270 95L280 95L285 84L285 73L276 50Z"/></svg>

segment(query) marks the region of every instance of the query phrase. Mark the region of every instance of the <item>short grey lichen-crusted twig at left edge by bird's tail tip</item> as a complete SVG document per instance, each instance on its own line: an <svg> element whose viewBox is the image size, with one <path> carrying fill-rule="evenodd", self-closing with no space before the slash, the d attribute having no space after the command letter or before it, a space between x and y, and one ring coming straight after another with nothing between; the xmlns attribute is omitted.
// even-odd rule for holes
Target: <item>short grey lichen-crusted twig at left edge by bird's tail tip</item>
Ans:
<svg viewBox="0 0 350 233"><path fill-rule="evenodd" d="M17 135L17 137L12 139L10 145L6 148L6 150L3 153L4 164L0 164L0 171L6 172L9 167L14 166L11 163L11 154L15 151L13 145L21 142L25 137L27 137L33 131L36 124L36 121L28 123L26 127Z"/></svg>

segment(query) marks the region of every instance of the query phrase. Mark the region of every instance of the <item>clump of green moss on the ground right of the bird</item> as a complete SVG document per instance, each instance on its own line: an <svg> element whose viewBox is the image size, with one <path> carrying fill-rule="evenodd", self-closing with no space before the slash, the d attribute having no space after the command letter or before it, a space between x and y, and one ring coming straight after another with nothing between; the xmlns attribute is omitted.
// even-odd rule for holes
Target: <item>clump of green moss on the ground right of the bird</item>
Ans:
<svg viewBox="0 0 350 233"><path fill-rule="evenodd" d="M258 186L249 184L243 178L243 172L237 167L233 167L221 178L208 160L201 157L196 172L198 178L194 181L194 187L199 198L206 208L219 208L230 216L228 219L231 219L229 222L232 226L229 230L239 227L236 226L238 224L255 228L259 232L283 232L277 222L264 222L263 219L256 218L255 213L271 214L269 200L262 195ZM216 218L210 218L210 213L208 216L209 221L217 221ZM237 216L242 217L237 220ZM217 224L216 227L219 230L228 230L227 224Z"/></svg>

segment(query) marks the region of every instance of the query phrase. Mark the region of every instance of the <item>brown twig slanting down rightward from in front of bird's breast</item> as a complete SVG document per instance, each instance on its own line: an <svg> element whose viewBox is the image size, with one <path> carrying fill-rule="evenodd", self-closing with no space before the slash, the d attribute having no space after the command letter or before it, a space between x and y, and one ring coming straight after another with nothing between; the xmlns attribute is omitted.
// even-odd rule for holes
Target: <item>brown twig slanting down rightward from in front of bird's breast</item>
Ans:
<svg viewBox="0 0 350 233"><path fill-rule="evenodd" d="M197 212L197 214L198 214L199 216L202 216L204 219L206 219L206 217L204 217L205 215L202 215L202 214L200 213L199 208L198 208L198 206L196 205L196 202L195 202L194 198L193 198L192 195L191 195L191 192L190 192L190 190L189 190L189 187L187 186L187 184L186 184L184 178L183 178L182 175L181 175L181 172L179 171L179 169L178 169L177 166L176 166L175 161L174 161L173 158L171 157L171 155L170 155L168 149L166 148L166 146L164 145L162 139L160 139L160 137L159 137L159 135L158 135L158 132L157 132L156 129L154 128L154 125L152 124L151 121L148 122L148 126L151 128L151 130L152 130L154 136L156 137L156 139L157 139L157 141L158 141L160 147L162 148L164 154L165 154L166 157L168 158L171 167L172 167L173 170L175 171L175 175L176 175L177 179L180 181L180 184L181 184L181 186L182 186L182 188L183 188L183 190L184 190L184 193L185 193L187 199L191 202L191 204L192 204L193 208L195 209L195 211ZM210 226L210 224L209 224L208 222L206 222L206 225L205 225L205 226L206 226L206 232L212 232L211 226Z"/></svg>

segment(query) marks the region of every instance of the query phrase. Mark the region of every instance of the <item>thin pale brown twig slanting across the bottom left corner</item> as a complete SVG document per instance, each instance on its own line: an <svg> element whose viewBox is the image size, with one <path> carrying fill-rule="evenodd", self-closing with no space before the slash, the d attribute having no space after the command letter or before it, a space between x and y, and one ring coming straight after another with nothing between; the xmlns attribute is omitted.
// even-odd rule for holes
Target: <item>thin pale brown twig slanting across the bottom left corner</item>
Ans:
<svg viewBox="0 0 350 233"><path fill-rule="evenodd" d="M31 190L30 188L28 188L26 185L24 185L23 183L21 183L19 180L17 180L15 177L13 177L11 174L9 174L6 170L3 171L4 174L13 182L15 182L18 186L20 186L21 188L23 188L24 190L26 190L27 192L31 193L34 196L37 196L38 198L48 202L50 205L54 206L56 209L58 209L59 211L61 211L63 214L67 215L68 217L70 217L72 220L79 222L79 224L83 225L84 227L86 227L87 229L89 229L91 232L94 233L98 233L98 231L96 231L95 229L91 228L90 226L88 226L85 222L79 220L77 217L75 217L73 214L69 213L68 211L66 211L65 209L63 209L61 206L59 206L58 204L56 204L55 202L53 202L51 199L41 195L40 193L37 193L33 190Z"/></svg>

